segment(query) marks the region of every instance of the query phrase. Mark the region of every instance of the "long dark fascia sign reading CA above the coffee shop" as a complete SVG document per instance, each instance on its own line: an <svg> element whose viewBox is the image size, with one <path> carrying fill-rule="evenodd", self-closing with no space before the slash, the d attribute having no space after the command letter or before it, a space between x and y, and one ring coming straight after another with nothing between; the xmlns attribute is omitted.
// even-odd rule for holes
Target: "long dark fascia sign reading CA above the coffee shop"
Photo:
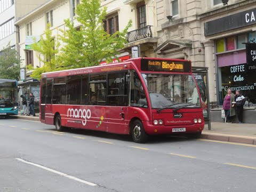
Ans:
<svg viewBox="0 0 256 192"><path fill-rule="evenodd" d="M204 23L204 35L209 36L223 31L237 29L239 27L250 26L256 23L256 9L243 11L228 15L220 19Z"/></svg>

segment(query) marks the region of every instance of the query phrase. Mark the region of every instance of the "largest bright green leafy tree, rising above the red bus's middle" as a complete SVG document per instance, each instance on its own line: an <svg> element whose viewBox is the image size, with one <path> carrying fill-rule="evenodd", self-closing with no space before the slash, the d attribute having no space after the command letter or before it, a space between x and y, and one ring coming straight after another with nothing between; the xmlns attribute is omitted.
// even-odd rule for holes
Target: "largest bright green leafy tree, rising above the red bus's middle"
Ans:
<svg viewBox="0 0 256 192"><path fill-rule="evenodd" d="M81 27L74 27L70 19L65 20L68 30L61 30L63 47L58 55L61 67L80 68L99 65L102 60L116 58L119 49L127 43L127 30L132 21L127 23L123 31L113 35L107 34L102 23L106 16L106 7L101 9L100 0L82 0L77 6L76 18ZM117 58L116 58L117 59Z"/></svg>

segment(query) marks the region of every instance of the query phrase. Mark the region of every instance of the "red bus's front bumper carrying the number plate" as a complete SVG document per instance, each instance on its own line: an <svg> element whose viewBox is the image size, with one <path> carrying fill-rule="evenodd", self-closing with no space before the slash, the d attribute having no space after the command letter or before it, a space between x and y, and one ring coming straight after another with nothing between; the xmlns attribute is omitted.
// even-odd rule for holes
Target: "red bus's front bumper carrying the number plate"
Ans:
<svg viewBox="0 0 256 192"><path fill-rule="evenodd" d="M142 122L145 132L149 135L157 134L182 134L182 133L196 133L202 132L204 129L204 122L189 125L153 125L151 121ZM176 129L185 128L185 129ZM180 131L182 130L182 131ZM186 130L186 131L185 131Z"/></svg>

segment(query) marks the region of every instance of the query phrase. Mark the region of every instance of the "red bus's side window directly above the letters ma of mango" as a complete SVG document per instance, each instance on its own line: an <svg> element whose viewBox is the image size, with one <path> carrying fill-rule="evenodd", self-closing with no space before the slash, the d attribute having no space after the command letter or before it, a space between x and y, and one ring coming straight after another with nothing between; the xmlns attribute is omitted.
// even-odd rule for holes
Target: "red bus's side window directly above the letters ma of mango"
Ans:
<svg viewBox="0 0 256 192"><path fill-rule="evenodd" d="M80 105L81 103L81 76L67 77L67 103Z"/></svg>

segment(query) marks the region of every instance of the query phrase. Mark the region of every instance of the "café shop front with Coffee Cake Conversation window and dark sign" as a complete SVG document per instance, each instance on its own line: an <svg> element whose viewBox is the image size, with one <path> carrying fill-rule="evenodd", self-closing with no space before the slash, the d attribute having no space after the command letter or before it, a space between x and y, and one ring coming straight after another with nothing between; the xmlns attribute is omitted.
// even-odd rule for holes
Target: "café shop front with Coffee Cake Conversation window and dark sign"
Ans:
<svg viewBox="0 0 256 192"><path fill-rule="evenodd" d="M256 44L254 13L256 16L256 9L249 9L204 23L206 39L214 42L219 105L223 104L228 88L233 93L241 90L246 105L256 104L256 46L255 49L249 48ZM251 53L253 61L248 62L246 56L248 58Z"/></svg>

